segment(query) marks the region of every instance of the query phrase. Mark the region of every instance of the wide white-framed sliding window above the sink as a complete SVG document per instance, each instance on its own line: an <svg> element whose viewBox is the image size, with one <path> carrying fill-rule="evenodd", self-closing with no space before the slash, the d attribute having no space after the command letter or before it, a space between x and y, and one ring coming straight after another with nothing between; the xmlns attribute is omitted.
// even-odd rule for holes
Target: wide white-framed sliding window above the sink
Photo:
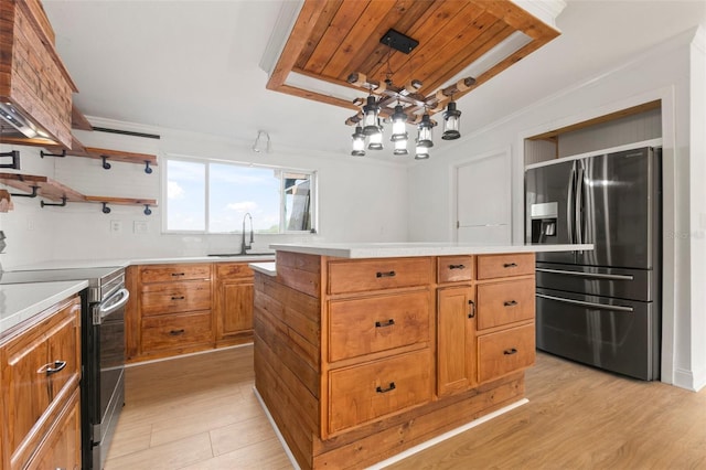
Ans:
<svg viewBox="0 0 706 470"><path fill-rule="evenodd" d="M311 232L314 178L312 171L169 157L165 232L240 232L246 214L257 233Z"/></svg>

